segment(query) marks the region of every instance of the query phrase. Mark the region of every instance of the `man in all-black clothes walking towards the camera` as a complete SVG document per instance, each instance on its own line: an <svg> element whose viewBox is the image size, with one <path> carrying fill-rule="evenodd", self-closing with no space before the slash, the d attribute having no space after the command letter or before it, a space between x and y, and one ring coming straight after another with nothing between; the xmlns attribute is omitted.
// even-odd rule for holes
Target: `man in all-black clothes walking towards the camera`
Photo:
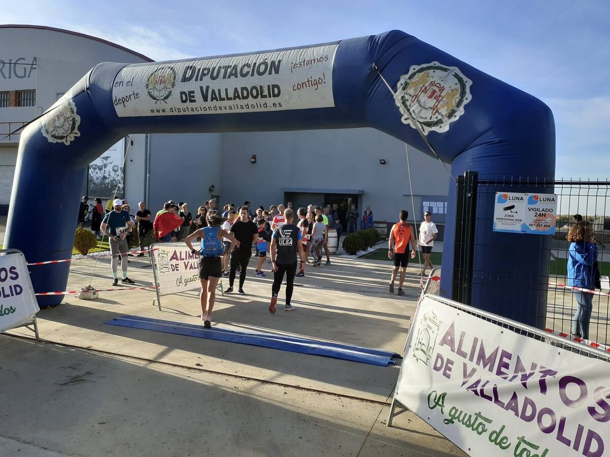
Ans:
<svg viewBox="0 0 610 457"><path fill-rule="evenodd" d="M233 283L235 282L235 271L237 266L240 266L239 272L239 289L240 294L245 294L243 291L243 282L246 280L246 269L248 262L252 256L252 244L259 239L259 228L250 221L248 208L242 207L239 210L239 219L231 225L231 234L237 238L240 245L230 252L230 267L229 267L229 288L224 291L225 294L233 291Z"/></svg>

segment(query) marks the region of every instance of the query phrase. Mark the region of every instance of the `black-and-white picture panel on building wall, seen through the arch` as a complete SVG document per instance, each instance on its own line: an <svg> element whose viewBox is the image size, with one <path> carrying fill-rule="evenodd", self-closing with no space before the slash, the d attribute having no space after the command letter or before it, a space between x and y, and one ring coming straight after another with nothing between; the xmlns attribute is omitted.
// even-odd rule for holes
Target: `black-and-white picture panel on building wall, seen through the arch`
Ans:
<svg viewBox="0 0 610 457"><path fill-rule="evenodd" d="M117 144L90 163L87 194L91 198L111 199L115 191L118 196L123 196L124 147L125 139L121 138Z"/></svg>

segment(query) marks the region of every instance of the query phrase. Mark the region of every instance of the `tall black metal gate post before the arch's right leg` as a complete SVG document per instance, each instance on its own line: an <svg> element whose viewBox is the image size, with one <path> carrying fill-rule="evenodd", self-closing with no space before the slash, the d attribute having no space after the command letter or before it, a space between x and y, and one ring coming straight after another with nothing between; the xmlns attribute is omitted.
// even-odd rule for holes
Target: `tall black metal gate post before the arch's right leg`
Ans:
<svg viewBox="0 0 610 457"><path fill-rule="evenodd" d="M476 191L479 174L467 171L458 176L453 249L451 299L470 305L475 253Z"/></svg>

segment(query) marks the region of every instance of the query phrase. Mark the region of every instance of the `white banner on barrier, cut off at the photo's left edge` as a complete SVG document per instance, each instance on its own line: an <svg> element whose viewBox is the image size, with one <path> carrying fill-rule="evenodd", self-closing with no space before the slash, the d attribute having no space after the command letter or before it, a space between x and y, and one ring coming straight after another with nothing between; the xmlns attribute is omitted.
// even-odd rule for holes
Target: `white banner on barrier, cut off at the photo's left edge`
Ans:
<svg viewBox="0 0 610 457"><path fill-rule="evenodd" d="M23 253L0 255L0 332L31 321L38 311Z"/></svg>

